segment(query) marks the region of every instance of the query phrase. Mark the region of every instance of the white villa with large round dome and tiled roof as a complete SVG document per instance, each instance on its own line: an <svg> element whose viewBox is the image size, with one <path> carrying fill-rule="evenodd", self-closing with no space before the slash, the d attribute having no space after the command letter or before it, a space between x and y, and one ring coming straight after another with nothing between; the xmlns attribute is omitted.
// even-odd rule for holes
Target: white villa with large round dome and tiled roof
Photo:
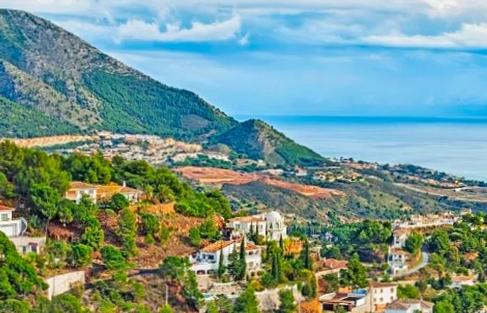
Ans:
<svg viewBox="0 0 487 313"><path fill-rule="evenodd" d="M252 227L254 232L273 241L287 237L287 227L278 211L232 218L227 223L227 227L240 235L248 234Z"/></svg>

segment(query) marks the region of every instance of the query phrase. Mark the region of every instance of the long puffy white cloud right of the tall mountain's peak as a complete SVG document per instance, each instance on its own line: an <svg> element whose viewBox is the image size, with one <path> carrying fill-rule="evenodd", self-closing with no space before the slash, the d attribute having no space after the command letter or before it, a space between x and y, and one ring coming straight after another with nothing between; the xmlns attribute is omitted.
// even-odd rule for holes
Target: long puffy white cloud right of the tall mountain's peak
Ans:
<svg viewBox="0 0 487 313"><path fill-rule="evenodd" d="M129 19L118 26L118 40L154 40L159 42L204 42L235 38L241 27L239 15L223 22L202 24L193 22L184 29L178 24L166 24L166 31L161 31L155 22L147 23L141 19Z"/></svg>

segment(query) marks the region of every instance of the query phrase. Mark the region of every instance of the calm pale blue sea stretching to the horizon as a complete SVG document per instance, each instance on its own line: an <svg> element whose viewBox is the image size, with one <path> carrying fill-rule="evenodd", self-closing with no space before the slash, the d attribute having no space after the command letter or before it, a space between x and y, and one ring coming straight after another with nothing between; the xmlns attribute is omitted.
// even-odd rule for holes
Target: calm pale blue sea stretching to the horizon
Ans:
<svg viewBox="0 0 487 313"><path fill-rule="evenodd" d="M325 157L412 163L487 181L487 119L258 118Z"/></svg>

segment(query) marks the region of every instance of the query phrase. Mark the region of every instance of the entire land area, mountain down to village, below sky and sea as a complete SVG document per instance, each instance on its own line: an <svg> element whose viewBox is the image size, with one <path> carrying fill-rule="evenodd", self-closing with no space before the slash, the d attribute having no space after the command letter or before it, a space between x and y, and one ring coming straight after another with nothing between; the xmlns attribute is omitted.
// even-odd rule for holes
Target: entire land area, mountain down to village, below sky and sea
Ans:
<svg viewBox="0 0 487 313"><path fill-rule="evenodd" d="M21 10L0 38L0 313L487 312L485 182L326 159Z"/></svg>

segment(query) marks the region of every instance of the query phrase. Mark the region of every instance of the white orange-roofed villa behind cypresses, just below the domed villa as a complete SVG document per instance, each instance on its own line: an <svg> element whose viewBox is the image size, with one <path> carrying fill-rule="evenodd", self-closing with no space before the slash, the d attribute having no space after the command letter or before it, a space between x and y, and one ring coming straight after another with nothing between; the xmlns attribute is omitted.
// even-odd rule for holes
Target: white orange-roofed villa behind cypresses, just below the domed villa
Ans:
<svg viewBox="0 0 487 313"><path fill-rule="evenodd" d="M191 270L197 275L214 274L216 271L218 271L220 255L223 253L223 264L227 266L228 255L239 248L239 241L221 240L211 243L189 257L189 262L192 264ZM252 242L248 242L246 243L245 252L247 272L255 273L259 271L261 266L261 248L259 246L255 246L255 244Z"/></svg>

